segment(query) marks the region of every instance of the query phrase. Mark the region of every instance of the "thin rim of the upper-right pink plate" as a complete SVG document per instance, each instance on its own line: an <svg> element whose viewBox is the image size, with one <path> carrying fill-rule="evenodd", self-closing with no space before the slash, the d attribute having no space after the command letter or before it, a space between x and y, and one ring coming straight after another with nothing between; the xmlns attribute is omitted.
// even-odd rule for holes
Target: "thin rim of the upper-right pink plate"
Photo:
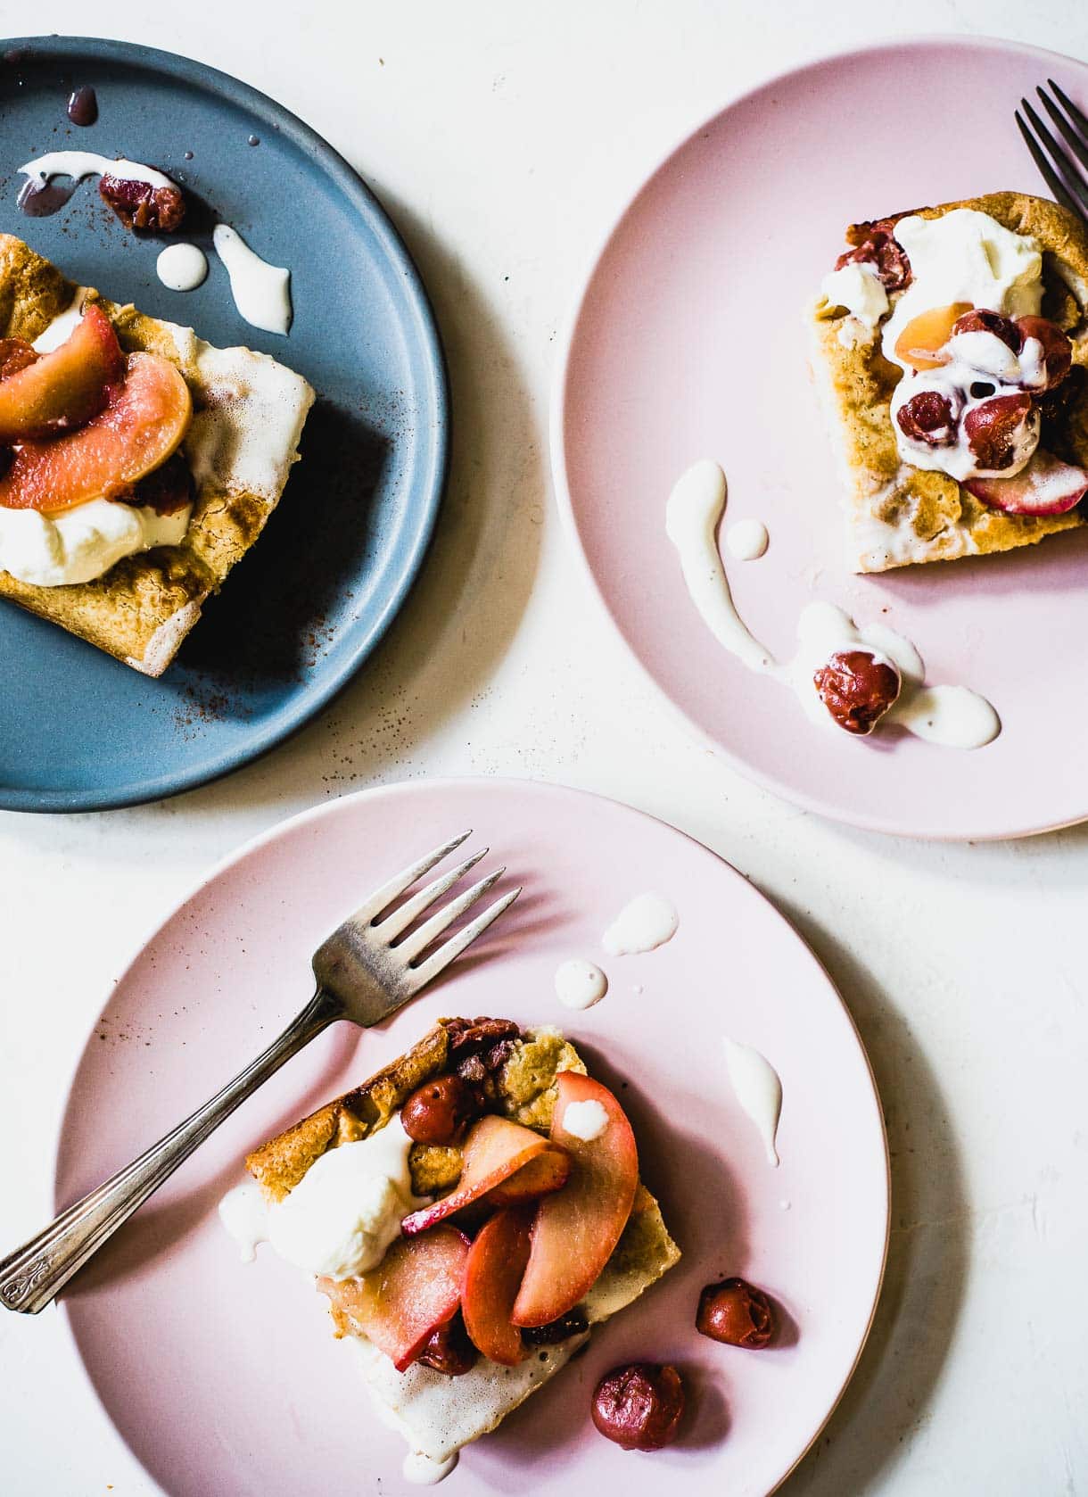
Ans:
<svg viewBox="0 0 1088 1497"><path fill-rule="evenodd" d="M549 451L551 451L551 469L552 469L552 487L555 490L555 504L560 512L560 521L563 530L570 542L570 546L578 557L585 576L590 591L596 597L605 617L609 620L617 636L623 641L629 657L635 662L642 674L642 678L650 683L658 701L666 705L675 722L679 722L684 729L696 738L705 748L708 748L717 759L723 760L739 774L742 778L750 780L763 790L769 790L771 795L787 801L790 805L798 805L805 811L816 811L819 816L825 816L828 820L840 822L847 826L858 826L861 831L884 832L892 837L904 837L908 840L923 840L923 841L952 841L952 843L973 843L973 841L1007 841L1021 837L1042 837L1046 832L1057 832L1066 826L1076 826L1084 820L1088 820L1088 802L1085 808L1061 817L1055 822L1048 822L1045 825L1036 826L1013 826L995 831L992 826L980 826L976 829L961 829L956 832L949 832L941 826L926 826L919 825L910 829L896 825L890 820L883 820L877 816L864 814L847 814L840 805L832 801L825 801L820 796L805 795L804 792L787 789L774 775L765 774L757 765L750 763L739 754L735 754L724 744L718 743L711 734L708 734L699 723L696 723L688 714L673 702L664 686L657 680L657 677L648 669L642 662L638 650L632 645L620 620L615 617L609 608L608 599L605 597L597 576L593 570L590 558L582 545L582 536L578 527L578 515L575 512L575 501L570 494L570 487L567 484L567 451L566 451L566 436L564 422L567 415L567 374L570 368L570 356L573 350L573 343L579 331L579 323L582 314L587 310L587 301L590 292L593 290L593 281L596 278L600 260L605 257L612 246L612 241L620 234L627 217L638 208L639 199L654 181L669 168L676 156L679 156L687 145L703 130L706 130L720 115L726 111L736 108L738 105L753 99L756 94L765 90L778 88L781 84L787 82L790 78L811 72L819 67L826 67L837 61L846 61L855 57L867 57L874 52L881 51L908 51L916 46L949 46L949 48L965 48L971 49L976 46L997 46L1010 52L1019 52L1024 57L1034 57L1045 67L1048 60L1060 60L1063 63L1075 63L1079 67L1087 67L1088 64L1078 57L1072 57L1067 52L1055 52L1051 48L1033 46L1030 42L1015 42L1004 36L989 36L989 34L964 34L964 33L941 33L941 31L920 31L913 36L884 36L875 42L867 42L861 46L849 46L835 49L831 52L822 52L817 57L808 58L804 63L795 63L790 67L784 67L777 73L769 73L762 78L751 88L744 88L741 93L730 94L712 114L705 115L697 124L684 130L684 135L675 141L647 171L642 177L639 186L623 204L617 213L612 223L608 226L596 247L587 257L587 268L578 281L576 295L567 310L566 319L560 328L558 347L555 353L555 364L552 367L552 386L549 395Z"/></svg>

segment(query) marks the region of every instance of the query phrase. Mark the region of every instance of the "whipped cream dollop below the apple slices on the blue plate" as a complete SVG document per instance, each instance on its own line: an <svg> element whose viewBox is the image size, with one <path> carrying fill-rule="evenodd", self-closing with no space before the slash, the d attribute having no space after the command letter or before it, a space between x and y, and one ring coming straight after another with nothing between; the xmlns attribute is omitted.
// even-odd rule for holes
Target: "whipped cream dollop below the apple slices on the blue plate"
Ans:
<svg viewBox="0 0 1088 1497"><path fill-rule="evenodd" d="M91 582L121 557L180 545L190 515L190 504L159 515L112 499L48 512L0 506L0 570L34 587Z"/></svg>

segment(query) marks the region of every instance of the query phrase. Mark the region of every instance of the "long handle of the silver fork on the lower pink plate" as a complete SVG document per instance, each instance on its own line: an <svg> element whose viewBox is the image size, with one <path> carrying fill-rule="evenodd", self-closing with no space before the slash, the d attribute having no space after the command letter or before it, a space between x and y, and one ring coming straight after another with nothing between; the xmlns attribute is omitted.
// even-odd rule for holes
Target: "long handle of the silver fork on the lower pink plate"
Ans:
<svg viewBox="0 0 1088 1497"><path fill-rule="evenodd" d="M343 1012L340 1000L325 988L319 988L283 1034L210 1102L198 1108L184 1123L178 1123L139 1159L133 1159L82 1201L63 1211L37 1237L31 1237L28 1243L0 1260L0 1304L24 1314L37 1314L43 1310L72 1274L97 1253L102 1244L163 1181L169 1180L178 1165L189 1159L239 1103L334 1019L343 1018Z"/></svg>

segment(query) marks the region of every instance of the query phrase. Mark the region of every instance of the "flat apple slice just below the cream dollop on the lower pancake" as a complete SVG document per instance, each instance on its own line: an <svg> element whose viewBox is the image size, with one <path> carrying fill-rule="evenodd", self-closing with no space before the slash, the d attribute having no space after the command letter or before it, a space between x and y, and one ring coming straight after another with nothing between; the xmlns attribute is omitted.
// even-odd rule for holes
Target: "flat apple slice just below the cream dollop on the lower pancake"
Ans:
<svg viewBox="0 0 1088 1497"><path fill-rule="evenodd" d="M398 1373L419 1356L461 1304L468 1238L453 1226L427 1237L398 1237L362 1278L319 1278L338 1320L370 1337Z"/></svg>

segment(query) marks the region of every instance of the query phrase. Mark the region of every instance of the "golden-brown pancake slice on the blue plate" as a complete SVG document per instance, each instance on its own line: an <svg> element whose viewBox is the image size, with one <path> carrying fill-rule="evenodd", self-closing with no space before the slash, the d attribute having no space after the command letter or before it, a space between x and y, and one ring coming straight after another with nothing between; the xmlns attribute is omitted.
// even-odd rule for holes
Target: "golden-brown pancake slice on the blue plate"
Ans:
<svg viewBox="0 0 1088 1497"><path fill-rule="evenodd" d="M251 349L216 349L183 328L75 286L12 235L0 235L0 337L63 341L96 301L127 352L175 364L193 395L184 440L196 499L180 545L117 561L93 582L37 587L0 570L0 597L60 624L144 675L162 675L230 567L275 509L314 392L301 374Z"/></svg>

